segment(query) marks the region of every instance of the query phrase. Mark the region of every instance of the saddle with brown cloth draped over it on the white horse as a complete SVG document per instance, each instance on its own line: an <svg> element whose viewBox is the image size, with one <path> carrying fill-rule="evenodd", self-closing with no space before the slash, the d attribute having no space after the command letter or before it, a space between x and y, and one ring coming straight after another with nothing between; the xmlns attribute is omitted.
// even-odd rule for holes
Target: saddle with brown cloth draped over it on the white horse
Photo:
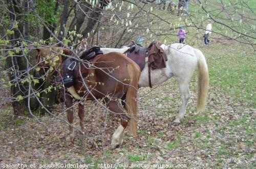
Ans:
<svg viewBox="0 0 256 169"><path fill-rule="evenodd" d="M144 48L133 44L130 46L130 50L126 53L128 58L139 65L141 71L146 64L145 58L148 58L148 81L150 88L152 88L151 69L154 70L166 67L167 57L160 45L162 45L162 43L159 41L153 41L148 47Z"/></svg>

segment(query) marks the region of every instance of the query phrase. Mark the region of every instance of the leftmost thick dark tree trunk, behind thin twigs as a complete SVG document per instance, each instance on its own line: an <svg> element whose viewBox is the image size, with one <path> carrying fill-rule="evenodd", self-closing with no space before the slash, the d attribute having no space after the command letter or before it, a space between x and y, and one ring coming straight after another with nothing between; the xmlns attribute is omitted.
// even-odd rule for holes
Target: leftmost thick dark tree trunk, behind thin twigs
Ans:
<svg viewBox="0 0 256 169"><path fill-rule="evenodd" d="M29 1L24 1L24 4L20 4L20 1L8 1L8 3L9 10L11 11L10 30L14 31L14 34L9 36L9 40L11 41L11 47L9 47L9 49L14 52L14 55L9 55L6 58L5 68L12 68L13 70L9 72L9 78L12 81L11 93L13 97L12 106L14 115L23 116L28 114L29 105L31 105L30 109L35 109L38 106L38 102L34 97L28 99L30 97L30 88L36 89L35 86L33 86L33 82L22 81L28 79L32 72L29 67L29 53L26 55L23 53L23 50L26 48L24 48L23 40L29 40L29 22L27 19L24 21L22 16L24 16L24 13L29 13ZM25 9L25 11L22 11L22 9ZM18 29L14 26L16 21L18 22ZM24 37L24 39L22 37ZM15 48L20 49L20 51L17 52ZM34 53L32 57L34 57ZM30 100L30 103L28 103L28 100Z"/></svg>

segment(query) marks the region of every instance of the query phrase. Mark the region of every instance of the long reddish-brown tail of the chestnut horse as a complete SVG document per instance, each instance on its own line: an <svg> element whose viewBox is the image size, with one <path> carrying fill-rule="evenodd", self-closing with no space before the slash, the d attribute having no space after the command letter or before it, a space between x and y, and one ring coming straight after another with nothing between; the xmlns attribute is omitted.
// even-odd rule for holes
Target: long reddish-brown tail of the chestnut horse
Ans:
<svg viewBox="0 0 256 169"><path fill-rule="evenodd" d="M128 114L131 116L131 120L129 122L129 132L130 135L137 135L137 90L138 90L138 82L140 77L140 68L135 64L127 64L127 71L130 76L130 83L126 93L126 110Z"/></svg>

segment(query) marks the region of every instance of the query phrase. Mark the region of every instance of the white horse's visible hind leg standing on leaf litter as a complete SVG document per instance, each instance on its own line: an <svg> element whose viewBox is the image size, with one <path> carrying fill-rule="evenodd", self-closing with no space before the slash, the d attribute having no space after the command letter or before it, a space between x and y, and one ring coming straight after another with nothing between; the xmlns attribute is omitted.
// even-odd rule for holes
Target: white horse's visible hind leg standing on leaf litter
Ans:
<svg viewBox="0 0 256 169"><path fill-rule="evenodd" d="M174 123L180 123L180 120L185 115L187 102L188 102L188 99L190 98L190 92L189 92L188 81L185 81L183 78L176 78L176 80L178 82L180 94L181 94L181 106L180 106L179 114L175 119Z"/></svg>

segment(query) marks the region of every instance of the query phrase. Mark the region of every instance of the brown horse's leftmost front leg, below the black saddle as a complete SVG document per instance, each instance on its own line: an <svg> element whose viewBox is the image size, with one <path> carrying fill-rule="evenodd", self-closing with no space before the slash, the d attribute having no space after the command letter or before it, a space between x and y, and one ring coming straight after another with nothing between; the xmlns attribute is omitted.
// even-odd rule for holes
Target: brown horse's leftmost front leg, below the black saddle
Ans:
<svg viewBox="0 0 256 169"><path fill-rule="evenodd" d="M72 111L72 98L69 95L65 96L65 104L66 107L68 108L67 110L67 118L68 118L68 122L69 122L69 134L66 138L67 142L73 142L74 137L75 137L75 132L74 132L74 128L72 127L72 124L74 122L74 116L73 116L73 111Z"/></svg>

